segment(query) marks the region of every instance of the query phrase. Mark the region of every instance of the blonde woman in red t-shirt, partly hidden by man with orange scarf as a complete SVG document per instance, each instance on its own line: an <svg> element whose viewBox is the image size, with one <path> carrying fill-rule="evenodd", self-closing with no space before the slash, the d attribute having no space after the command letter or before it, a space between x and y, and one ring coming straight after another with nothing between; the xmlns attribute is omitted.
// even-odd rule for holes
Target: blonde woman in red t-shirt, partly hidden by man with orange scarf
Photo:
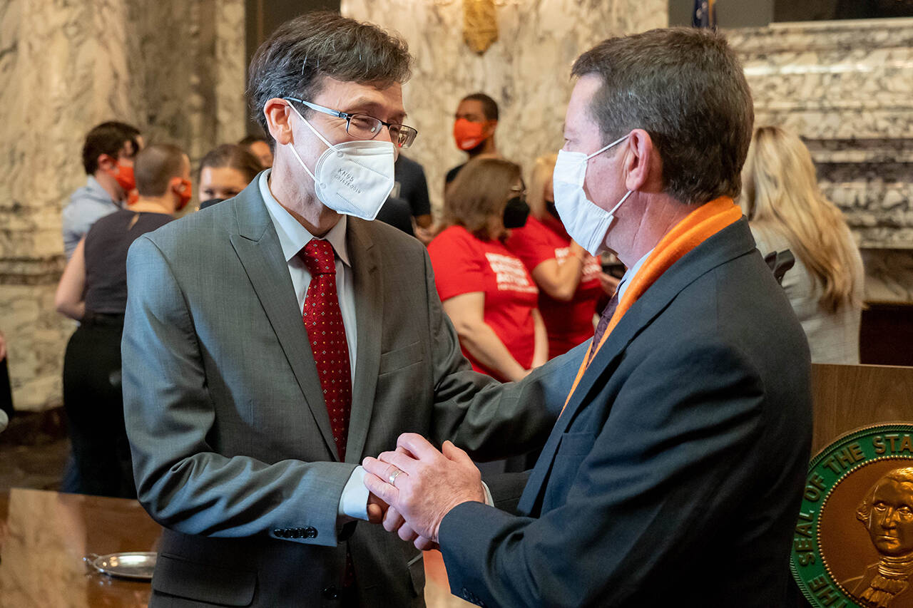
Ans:
<svg viewBox="0 0 913 608"><path fill-rule="evenodd" d="M523 260L540 288L539 309L557 357L593 337L596 301L603 294L597 257L577 245L555 210L551 173L557 154L541 156L532 170L530 218L511 231L505 245ZM614 288L614 285L612 286Z"/></svg>

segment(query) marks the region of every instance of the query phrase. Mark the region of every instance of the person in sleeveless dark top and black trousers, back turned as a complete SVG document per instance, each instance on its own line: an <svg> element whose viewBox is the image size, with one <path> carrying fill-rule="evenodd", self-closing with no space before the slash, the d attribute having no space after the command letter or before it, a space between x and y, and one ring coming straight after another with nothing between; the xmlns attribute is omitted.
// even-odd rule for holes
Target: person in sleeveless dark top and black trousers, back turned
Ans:
<svg viewBox="0 0 913 608"><path fill-rule="evenodd" d="M58 312L79 320L64 356L63 398L76 487L64 491L135 498L121 398L121 333L127 250L190 201L190 161L176 146L145 148L134 162L139 198L98 220L79 241L58 285Z"/></svg>

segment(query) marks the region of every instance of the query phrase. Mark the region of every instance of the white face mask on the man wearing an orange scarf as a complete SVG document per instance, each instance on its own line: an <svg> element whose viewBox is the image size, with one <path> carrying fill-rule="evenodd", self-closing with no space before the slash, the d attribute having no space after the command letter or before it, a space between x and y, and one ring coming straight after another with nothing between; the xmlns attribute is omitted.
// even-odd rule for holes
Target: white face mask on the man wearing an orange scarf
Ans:
<svg viewBox="0 0 913 608"><path fill-rule="evenodd" d="M605 211L598 204L593 203L583 192L583 180L586 178L586 163L593 156L602 154L612 146L624 142L627 135L615 140L603 149L593 152L589 156L583 152L558 152L558 162L555 162L555 171L552 174L555 192L555 208L561 216L561 223L572 239L591 256L597 255L603 248L605 233L614 220L614 213L627 197L634 191L629 190L624 198L618 201L612 211Z"/></svg>

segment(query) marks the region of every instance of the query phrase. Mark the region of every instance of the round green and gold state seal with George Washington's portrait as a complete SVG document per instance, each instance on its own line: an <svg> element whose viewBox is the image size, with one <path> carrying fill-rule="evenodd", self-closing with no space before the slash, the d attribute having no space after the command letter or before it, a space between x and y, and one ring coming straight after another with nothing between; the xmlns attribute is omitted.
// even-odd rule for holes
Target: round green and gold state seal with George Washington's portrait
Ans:
<svg viewBox="0 0 913 608"><path fill-rule="evenodd" d="M821 608L913 608L913 425L869 426L812 459L792 575Z"/></svg>

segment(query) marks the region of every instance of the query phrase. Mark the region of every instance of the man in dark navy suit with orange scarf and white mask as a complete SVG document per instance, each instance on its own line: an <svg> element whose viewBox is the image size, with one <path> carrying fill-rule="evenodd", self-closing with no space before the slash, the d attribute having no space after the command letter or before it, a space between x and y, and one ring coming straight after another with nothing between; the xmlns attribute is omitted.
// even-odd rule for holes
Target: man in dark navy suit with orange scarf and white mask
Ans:
<svg viewBox="0 0 913 608"><path fill-rule="evenodd" d="M753 121L739 61L716 34L654 30L573 74L555 204L628 270L569 353L578 375L519 514L481 504L462 450L414 434L365 459L365 483L479 605L783 605L810 362L732 202Z"/></svg>

